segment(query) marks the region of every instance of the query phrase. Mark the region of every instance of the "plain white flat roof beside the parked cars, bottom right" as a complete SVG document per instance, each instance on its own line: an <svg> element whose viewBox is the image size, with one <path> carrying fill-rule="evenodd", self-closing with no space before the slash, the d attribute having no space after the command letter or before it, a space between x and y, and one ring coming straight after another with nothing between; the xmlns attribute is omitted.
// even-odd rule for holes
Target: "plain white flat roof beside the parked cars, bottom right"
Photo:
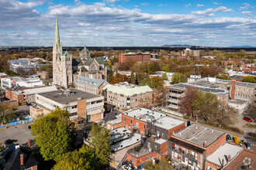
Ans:
<svg viewBox="0 0 256 170"><path fill-rule="evenodd" d="M229 143L225 143L220 148L218 148L216 151L213 152L212 155L209 155L207 157L207 161L213 162L216 165L223 166L227 165L228 163L228 156L230 155L231 162L233 159L239 155L240 151L242 151L243 148L240 148L236 145L231 145Z"/></svg>

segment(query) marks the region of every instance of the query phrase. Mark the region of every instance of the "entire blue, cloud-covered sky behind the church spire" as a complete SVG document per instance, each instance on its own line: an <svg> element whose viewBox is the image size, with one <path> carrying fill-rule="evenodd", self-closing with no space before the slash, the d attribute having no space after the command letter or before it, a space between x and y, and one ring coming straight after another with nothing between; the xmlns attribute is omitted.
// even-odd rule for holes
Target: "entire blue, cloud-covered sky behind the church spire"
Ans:
<svg viewBox="0 0 256 170"><path fill-rule="evenodd" d="M0 46L256 46L256 0L0 0Z"/></svg>

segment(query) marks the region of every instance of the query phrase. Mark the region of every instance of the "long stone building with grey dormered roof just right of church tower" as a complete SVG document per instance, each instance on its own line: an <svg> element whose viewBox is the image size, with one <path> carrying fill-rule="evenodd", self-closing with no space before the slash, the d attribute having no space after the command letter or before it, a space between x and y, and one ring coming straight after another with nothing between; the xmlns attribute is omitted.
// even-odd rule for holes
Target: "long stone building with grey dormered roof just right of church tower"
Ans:
<svg viewBox="0 0 256 170"><path fill-rule="evenodd" d="M102 89L107 84L106 80L94 79L88 76L79 76L77 80L74 80L74 87L76 89L94 94L103 94Z"/></svg>

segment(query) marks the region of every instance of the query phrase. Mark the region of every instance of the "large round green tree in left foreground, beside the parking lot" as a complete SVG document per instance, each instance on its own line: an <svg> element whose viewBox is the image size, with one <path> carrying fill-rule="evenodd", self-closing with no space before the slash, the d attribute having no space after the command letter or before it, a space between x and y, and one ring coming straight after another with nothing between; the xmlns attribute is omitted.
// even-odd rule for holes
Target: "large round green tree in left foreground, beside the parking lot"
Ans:
<svg viewBox="0 0 256 170"><path fill-rule="evenodd" d="M32 134L40 147L44 160L57 158L71 151L75 141L74 123L69 119L67 110L56 109L40 117L32 125Z"/></svg>

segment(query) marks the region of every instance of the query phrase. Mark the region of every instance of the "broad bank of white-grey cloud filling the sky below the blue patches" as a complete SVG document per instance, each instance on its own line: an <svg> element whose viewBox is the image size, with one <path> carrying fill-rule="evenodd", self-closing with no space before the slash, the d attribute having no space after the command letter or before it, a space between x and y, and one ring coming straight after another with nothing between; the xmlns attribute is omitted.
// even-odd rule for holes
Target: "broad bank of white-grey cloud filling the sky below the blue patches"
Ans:
<svg viewBox="0 0 256 170"><path fill-rule="evenodd" d="M154 15L136 8L83 2L51 5L47 12L37 12L35 5L40 4L23 3L0 0L0 22L5 23L0 24L2 46L52 46L56 14L64 46L161 46L169 42L203 46L237 42L256 46L256 18L245 16L250 13L243 12L244 17L237 18L205 17L232 11L226 7L208 8L199 15Z"/></svg>

